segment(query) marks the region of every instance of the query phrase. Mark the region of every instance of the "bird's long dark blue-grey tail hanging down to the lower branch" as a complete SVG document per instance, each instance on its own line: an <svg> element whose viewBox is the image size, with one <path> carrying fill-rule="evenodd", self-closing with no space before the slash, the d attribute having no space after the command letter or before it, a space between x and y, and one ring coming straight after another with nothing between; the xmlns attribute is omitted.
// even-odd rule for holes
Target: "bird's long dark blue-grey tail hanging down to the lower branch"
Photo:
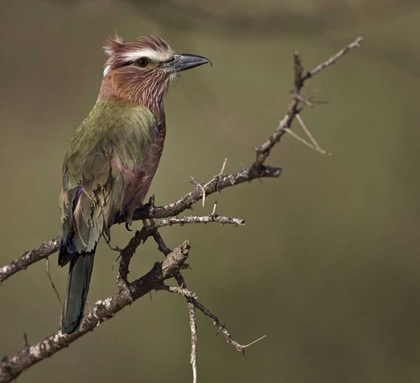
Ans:
<svg viewBox="0 0 420 383"><path fill-rule="evenodd" d="M70 260L69 278L61 319L61 332L63 334L75 332L82 322L94 256L95 250L89 253L74 254Z"/></svg>

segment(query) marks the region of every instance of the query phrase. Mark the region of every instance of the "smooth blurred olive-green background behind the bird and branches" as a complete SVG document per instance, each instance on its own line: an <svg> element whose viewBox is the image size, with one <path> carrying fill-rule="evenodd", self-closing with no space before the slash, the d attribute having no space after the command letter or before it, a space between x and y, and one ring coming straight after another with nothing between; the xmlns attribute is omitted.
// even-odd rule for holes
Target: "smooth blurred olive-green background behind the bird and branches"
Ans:
<svg viewBox="0 0 420 383"><path fill-rule="evenodd" d="M284 115L292 54L306 69L359 35L362 48L308 82L327 104L302 116L323 156L290 136L268 163L280 179L207 199L194 214L245 227L172 227L192 241L189 287L236 340L199 317L200 382L418 382L420 379L420 3L401 0L2 1L0 3L0 266L55 237L67 143L92 108L101 46L153 33L213 67L185 73L166 99L168 137L150 193L166 204L254 158ZM294 124L295 131L301 133ZM302 134L302 133L301 133ZM188 212L187 212L188 214ZM140 228L137 222L134 228ZM113 228L113 244L130 238ZM89 301L112 294L117 254L101 243ZM139 248L132 277L161 260ZM67 268L50 257L63 294ZM45 262L0 286L0 356L56 331L61 306ZM170 281L174 283L173 281ZM159 292L136 302L20 382L189 382L185 301Z"/></svg>

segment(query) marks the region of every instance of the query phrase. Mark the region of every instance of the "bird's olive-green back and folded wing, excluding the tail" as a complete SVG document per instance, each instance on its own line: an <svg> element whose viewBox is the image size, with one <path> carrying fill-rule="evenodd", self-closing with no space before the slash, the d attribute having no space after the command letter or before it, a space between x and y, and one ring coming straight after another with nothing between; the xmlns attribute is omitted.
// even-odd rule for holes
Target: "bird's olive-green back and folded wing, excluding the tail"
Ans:
<svg viewBox="0 0 420 383"><path fill-rule="evenodd" d="M66 252L60 252L60 265L71 254L94 250L116 214L123 213L130 194L135 194L133 185L156 125L144 108L124 113L108 104L95 108L76 131L64 159L60 205Z"/></svg>

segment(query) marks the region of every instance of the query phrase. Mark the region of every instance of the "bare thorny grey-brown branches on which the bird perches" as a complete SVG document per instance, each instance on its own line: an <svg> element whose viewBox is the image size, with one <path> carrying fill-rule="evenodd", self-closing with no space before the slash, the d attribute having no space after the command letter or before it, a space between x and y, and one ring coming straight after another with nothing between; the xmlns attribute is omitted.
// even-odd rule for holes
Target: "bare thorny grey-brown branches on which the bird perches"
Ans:
<svg viewBox="0 0 420 383"><path fill-rule="evenodd" d="M188 302L191 327L191 364L193 368L193 382L196 382L197 380L197 309L211 318L215 326L217 326L218 332L221 332L225 336L226 341L233 345L238 351L242 352L242 354L244 354L244 350L247 347L261 340L263 337L251 342L248 345L241 345L232 338L225 325L220 322L217 316L211 313L203 304L201 304L197 300L196 294L187 288L185 279L181 274L181 270L188 267L185 261L189 255L190 242L186 240L184 243L171 251L165 245L158 229L175 224L205 224L208 222L244 225L245 222L241 219L219 216L215 212L215 207L210 215L204 217L180 217L178 215L199 200L224 188L235 186L247 181L252 181L256 178L279 177L281 174L281 169L267 166L265 165L265 161L270 155L273 147L280 141L284 133L290 131L291 124L295 118L299 120L300 124L303 124L299 116L299 112L305 106L312 105L312 102L305 99L305 97L303 97L300 93L305 82L326 67L334 64L349 50L359 47L361 41L361 37L357 38L355 41L345 46L337 54L322 62L306 74L303 74L304 71L300 56L297 52L295 52L293 56L294 88L291 91L291 101L287 106L285 116L282 120L280 120L280 123L274 130L273 134L268 138L266 142L255 148L256 158L254 162L250 166L238 170L234 173L224 174L226 165L225 160L222 170L219 174L215 175L205 184L196 182L195 188L180 198L178 201L166 206L157 207L154 205L154 198L151 198L148 204L145 204L141 209L137 210L133 217L134 220L151 219L151 222L149 225L144 225L140 231L136 231L128 245L123 250L121 250L121 261L118 270L118 280L115 293L102 301L96 302L95 306L84 316L82 325L76 333L71 335L63 335L61 331L57 331L39 343L31 346L26 344L23 349L13 357L4 357L0 364L0 382L10 382L16 379L25 369L30 368L34 364L54 355L62 348L68 347L75 340L87 334L88 332L93 331L95 327L99 326L103 321L112 318L124 307L130 305L132 302L148 294L152 290L167 290L170 292L176 292L185 297ZM313 137L310 135L308 136L312 141L313 146L320 149L318 143L313 139ZM165 255L165 259L163 262L156 262L152 269L141 278L129 282L128 274L130 260L136 252L138 246L140 246L141 243L144 243L149 237L153 237L155 242L158 244L159 250ZM42 244L40 247L26 252L8 265L3 266L0 268L0 283L18 271L26 269L33 263L47 258L49 255L55 253L58 250L58 247L59 237L53 238ZM164 284L166 279L172 277L175 278L179 287L167 286Z"/></svg>

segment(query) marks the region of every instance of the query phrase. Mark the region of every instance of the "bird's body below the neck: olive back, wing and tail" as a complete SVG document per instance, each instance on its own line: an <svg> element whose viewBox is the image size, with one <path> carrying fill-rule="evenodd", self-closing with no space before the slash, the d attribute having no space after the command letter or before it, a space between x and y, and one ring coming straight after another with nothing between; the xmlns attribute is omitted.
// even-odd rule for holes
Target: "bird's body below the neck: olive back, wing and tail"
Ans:
<svg viewBox="0 0 420 383"><path fill-rule="evenodd" d="M150 110L98 100L69 143L60 196L59 264L71 261L63 332L80 324L101 235L119 216L130 216L147 193L159 162L153 162L156 134Z"/></svg>

